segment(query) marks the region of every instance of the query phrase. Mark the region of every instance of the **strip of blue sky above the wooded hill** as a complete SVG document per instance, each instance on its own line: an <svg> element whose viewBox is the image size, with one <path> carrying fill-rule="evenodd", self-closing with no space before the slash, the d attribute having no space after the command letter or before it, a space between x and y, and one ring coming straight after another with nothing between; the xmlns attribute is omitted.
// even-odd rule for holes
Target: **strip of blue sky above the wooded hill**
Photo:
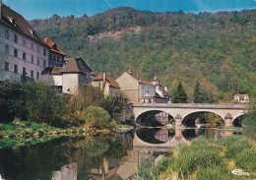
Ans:
<svg viewBox="0 0 256 180"><path fill-rule="evenodd" d="M81 17L128 6L153 12L232 11L256 9L256 0L2 0L7 6L22 14L27 20L45 19L56 14L61 17Z"/></svg>

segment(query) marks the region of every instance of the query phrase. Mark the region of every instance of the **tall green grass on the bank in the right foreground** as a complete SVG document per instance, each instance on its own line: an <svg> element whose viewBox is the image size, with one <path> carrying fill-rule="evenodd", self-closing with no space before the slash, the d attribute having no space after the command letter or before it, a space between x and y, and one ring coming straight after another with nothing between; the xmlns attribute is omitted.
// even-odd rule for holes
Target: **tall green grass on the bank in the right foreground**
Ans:
<svg viewBox="0 0 256 180"><path fill-rule="evenodd" d="M231 170L243 169L249 176ZM179 147L153 167L141 167L141 179L253 179L256 178L256 143L246 137L231 136L217 142L205 138Z"/></svg>

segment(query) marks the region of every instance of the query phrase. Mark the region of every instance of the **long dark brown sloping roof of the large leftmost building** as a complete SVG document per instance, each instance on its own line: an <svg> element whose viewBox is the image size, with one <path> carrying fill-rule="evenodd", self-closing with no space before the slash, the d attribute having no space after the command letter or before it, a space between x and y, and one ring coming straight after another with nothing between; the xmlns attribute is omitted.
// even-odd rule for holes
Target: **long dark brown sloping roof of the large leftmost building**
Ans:
<svg viewBox="0 0 256 180"><path fill-rule="evenodd" d="M15 12L2 2L0 2L0 13L1 23L5 24L6 26L13 30L16 30L20 33L25 34L26 36L31 37L33 40L36 40L37 42L46 46L46 44L36 34L35 30L32 29L32 26L25 20L25 18L22 15Z"/></svg>

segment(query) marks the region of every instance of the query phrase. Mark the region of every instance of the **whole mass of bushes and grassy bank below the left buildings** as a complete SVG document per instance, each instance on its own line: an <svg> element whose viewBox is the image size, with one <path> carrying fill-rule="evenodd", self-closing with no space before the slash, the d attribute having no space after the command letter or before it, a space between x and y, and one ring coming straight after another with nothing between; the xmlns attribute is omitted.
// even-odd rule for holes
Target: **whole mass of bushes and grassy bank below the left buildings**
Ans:
<svg viewBox="0 0 256 180"><path fill-rule="evenodd" d="M116 131L123 105L91 86L82 87L79 95L65 95L42 82L1 83L0 148L48 141L45 136Z"/></svg>

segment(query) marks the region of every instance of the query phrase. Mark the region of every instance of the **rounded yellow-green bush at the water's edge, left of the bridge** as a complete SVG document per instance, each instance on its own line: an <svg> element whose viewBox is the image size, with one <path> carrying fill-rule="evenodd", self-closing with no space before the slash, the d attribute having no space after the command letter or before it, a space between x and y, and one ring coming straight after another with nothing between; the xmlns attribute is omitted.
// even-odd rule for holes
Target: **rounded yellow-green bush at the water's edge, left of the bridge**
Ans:
<svg viewBox="0 0 256 180"><path fill-rule="evenodd" d="M111 123L110 115L101 107L90 105L83 113L85 114L83 118L87 128L103 129L114 126Z"/></svg>

